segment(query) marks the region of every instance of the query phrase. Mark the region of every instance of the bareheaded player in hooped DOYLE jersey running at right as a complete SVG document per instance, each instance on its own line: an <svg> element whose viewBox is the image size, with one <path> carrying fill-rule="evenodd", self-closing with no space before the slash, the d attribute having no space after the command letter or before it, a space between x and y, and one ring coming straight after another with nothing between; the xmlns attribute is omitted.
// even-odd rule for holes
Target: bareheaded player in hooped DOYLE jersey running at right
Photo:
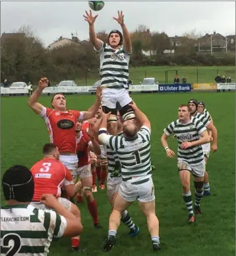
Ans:
<svg viewBox="0 0 236 256"><path fill-rule="evenodd" d="M191 173L194 176L195 214L202 214L200 200L204 192L205 163L201 145L210 142L210 138L204 124L198 118L191 116L188 105L179 106L178 114L179 119L171 122L164 129L161 142L167 157L174 157L175 153L169 149L167 139L171 134L176 134L178 142L177 166L183 186L183 199L189 212L189 224L191 224L195 222L190 190Z"/></svg>

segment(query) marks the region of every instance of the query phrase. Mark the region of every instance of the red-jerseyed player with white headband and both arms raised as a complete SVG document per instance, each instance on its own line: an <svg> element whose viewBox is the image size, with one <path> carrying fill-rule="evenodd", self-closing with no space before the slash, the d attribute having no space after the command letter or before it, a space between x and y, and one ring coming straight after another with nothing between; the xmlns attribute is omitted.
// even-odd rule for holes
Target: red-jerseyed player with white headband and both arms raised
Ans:
<svg viewBox="0 0 236 256"><path fill-rule="evenodd" d="M60 160L72 173L77 169L78 157L76 155L75 126L77 120L93 118L100 107L100 93L97 89L97 99L88 111L67 110L66 99L62 94L57 94L51 101L52 108L46 108L38 103L42 91L48 86L47 78L39 81L38 89L31 95L28 105L36 114L44 118L49 132L50 142L57 145Z"/></svg>

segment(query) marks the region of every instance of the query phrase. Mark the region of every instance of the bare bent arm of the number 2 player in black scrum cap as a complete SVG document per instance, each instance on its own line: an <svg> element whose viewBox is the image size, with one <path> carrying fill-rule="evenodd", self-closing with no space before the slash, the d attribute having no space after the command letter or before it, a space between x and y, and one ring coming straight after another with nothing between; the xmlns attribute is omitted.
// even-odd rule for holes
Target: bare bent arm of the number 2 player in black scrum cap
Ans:
<svg viewBox="0 0 236 256"><path fill-rule="evenodd" d="M67 221L67 227L65 228L63 236L74 237L76 235L80 235L83 232L83 226L79 220L80 218L76 218L74 214L59 204L55 196L52 194L43 194L41 202L48 208L55 210L57 214L63 216Z"/></svg>

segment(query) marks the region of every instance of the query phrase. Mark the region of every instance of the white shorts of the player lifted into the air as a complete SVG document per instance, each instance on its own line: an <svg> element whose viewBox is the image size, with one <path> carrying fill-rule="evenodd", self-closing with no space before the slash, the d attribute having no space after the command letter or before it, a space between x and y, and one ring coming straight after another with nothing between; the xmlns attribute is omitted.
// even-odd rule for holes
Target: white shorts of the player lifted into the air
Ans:
<svg viewBox="0 0 236 256"><path fill-rule="evenodd" d="M129 90L125 88L114 89L114 88L105 88L102 90L102 106L111 109L117 109L117 103L121 107L125 107L131 103L132 99L129 96Z"/></svg>

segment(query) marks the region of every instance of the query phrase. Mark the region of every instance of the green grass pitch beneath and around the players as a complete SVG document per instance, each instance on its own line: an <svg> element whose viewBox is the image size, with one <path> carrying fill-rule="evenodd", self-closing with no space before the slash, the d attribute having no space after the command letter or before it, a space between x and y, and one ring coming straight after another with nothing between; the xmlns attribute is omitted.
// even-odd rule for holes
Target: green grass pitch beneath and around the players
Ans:
<svg viewBox="0 0 236 256"><path fill-rule="evenodd" d="M203 198L203 215L196 216L196 225L187 224L187 209L183 202L181 183L177 173L177 159L167 159L160 144L163 128L177 118L177 107L190 98L204 101L218 128L218 152L211 153L207 170L210 175L211 196ZM40 102L50 106L51 97ZM152 122L152 161L156 165L153 179L156 189L156 213L160 220L160 239L163 256L233 256L235 255L235 95L234 93L183 93L133 95L133 99ZM44 120L34 114L26 97L1 99L1 175L14 164L29 168L42 158L42 146L49 142ZM90 95L67 96L67 107L86 110L92 105ZM169 140L177 151L177 142ZM192 193L193 182L192 182ZM81 235L79 255L103 255L102 244L108 229L110 206L106 191L94 193L102 230L95 230L86 204L78 207L82 213L84 233ZM3 194L1 194L3 203ZM146 220L138 204L129 208L140 234L129 237L129 230L121 224L117 245L109 253L115 255L148 256L152 254ZM53 242L49 255L73 255L70 239Z"/></svg>

